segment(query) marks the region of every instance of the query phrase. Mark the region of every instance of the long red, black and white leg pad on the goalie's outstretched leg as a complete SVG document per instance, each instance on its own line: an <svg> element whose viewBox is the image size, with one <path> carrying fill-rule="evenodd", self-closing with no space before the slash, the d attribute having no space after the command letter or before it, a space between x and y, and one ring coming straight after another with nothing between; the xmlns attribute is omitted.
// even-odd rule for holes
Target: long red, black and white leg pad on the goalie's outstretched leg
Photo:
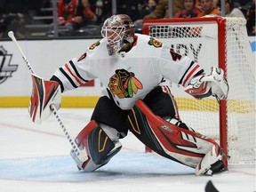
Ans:
<svg viewBox="0 0 256 192"><path fill-rule="evenodd" d="M130 131L148 148L193 168L196 168L212 146L218 145L198 132L164 121L153 114L142 100L138 100L132 108L127 124Z"/></svg>

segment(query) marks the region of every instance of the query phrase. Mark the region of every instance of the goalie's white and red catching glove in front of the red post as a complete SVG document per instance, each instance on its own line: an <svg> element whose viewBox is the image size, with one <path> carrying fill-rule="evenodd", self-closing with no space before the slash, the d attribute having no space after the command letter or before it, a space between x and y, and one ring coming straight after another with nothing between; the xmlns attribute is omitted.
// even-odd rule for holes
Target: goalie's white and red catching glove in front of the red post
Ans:
<svg viewBox="0 0 256 192"><path fill-rule="evenodd" d="M200 75L193 78L185 89L196 99L213 96L219 100L226 100L228 97L228 82L224 77L221 68L211 68L209 75Z"/></svg>

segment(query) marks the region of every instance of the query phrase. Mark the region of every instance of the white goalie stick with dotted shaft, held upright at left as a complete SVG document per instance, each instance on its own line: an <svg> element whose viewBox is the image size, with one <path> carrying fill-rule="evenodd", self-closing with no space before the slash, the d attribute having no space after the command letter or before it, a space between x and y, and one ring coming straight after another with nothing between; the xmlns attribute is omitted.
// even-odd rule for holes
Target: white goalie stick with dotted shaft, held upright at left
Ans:
<svg viewBox="0 0 256 192"><path fill-rule="evenodd" d="M16 44L16 47L18 48L18 50L20 51L21 57L24 60L24 62L26 63L28 70L31 72L32 75L35 75L35 72L32 68L32 66L30 65L27 57L25 56L24 52L22 51L20 44L18 44L18 41L16 39L16 37L14 36L12 31L8 32L8 36L12 39L12 42L14 42ZM39 77L37 77L39 78ZM42 81L44 81L42 79ZM57 108L54 106L54 104L50 105L50 109L52 111L52 114L55 116L55 118L57 119L57 121L60 124L60 127L62 129L62 131L64 132L64 134L66 135L72 149L74 150L74 152L76 153L76 156L79 156L81 158L81 160L83 160L84 162L87 160L87 156L84 155L85 151L84 150L80 150L77 146L76 143L74 142L74 140L72 140L72 138L70 137L67 128L65 127L65 125L63 124L62 120L60 119L60 116L58 115L57 112Z"/></svg>

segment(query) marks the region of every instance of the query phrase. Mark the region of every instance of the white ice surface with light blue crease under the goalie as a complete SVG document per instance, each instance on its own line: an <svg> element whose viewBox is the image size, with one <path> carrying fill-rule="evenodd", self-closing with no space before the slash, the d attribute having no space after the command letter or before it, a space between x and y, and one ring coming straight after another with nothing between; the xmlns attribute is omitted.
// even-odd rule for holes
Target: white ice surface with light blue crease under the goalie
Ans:
<svg viewBox="0 0 256 192"><path fill-rule="evenodd" d="M90 120L92 108L60 108L72 137ZM0 108L0 192L200 192L212 180L220 192L255 191L255 164L230 165L229 171L199 176L194 169L156 154L129 133L123 149L96 172L79 172L70 144L51 116L38 125L28 108Z"/></svg>

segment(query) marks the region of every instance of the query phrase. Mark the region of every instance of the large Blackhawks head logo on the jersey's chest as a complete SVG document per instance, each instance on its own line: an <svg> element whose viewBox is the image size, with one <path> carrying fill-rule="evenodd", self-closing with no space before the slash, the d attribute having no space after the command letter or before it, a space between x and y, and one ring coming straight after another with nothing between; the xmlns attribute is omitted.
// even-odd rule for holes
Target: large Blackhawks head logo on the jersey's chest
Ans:
<svg viewBox="0 0 256 192"><path fill-rule="evenodd" d="M134 73L118 69L116 74L110 77L108 88L112 94L115 94L119 99L123 99L132 98L133 93L136 94L138 89L143 88L143 85Z"/></svg>

